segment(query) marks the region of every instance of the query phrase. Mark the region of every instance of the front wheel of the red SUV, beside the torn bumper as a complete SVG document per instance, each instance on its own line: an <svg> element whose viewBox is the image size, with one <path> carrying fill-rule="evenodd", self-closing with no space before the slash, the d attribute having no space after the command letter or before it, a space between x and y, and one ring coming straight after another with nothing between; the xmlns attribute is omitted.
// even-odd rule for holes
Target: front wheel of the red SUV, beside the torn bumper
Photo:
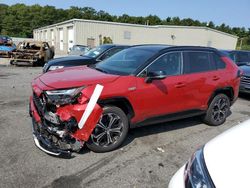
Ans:
<svg viewBox="0 0 250 188"><path fill-rule="evenodd" d="M128 129L126 114L118 107L106 106L86 145L97 153L112 151L123 143Z"/></svg>

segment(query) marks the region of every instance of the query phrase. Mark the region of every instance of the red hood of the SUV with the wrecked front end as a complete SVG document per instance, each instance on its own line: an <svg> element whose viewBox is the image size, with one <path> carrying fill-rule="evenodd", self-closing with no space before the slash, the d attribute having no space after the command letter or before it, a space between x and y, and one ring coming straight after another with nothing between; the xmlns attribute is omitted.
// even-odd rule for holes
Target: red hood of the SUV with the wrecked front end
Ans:
<svg viewBox="0 0 250 188"><path fill-rule="evenodd" d="M105 74L87 66L69 67L47 72L39 77L46 86L54 89L73 88L115 81L119 76Z"/></svg>

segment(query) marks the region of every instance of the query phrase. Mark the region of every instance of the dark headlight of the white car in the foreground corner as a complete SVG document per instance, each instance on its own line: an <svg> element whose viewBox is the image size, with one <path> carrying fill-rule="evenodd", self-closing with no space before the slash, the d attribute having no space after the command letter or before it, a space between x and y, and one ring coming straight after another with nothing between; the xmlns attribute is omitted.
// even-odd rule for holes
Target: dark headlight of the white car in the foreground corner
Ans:
<svg viewBox="0 0 250 188"><path fill-rule="evenodd" d="M186 188L215 188L208 173L203 156L203 148L197 150L185 168Z"/></svg>

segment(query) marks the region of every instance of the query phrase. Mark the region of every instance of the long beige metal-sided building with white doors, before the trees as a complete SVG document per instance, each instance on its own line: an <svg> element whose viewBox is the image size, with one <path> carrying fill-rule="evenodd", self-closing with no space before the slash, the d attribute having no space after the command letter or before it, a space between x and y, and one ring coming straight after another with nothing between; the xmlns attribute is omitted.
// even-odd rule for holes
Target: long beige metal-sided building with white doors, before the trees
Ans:
<svg viewBox="0 0 250 188"><path fill-rule="evenodd" d="M33 31L35 40L55 46L57 54L66 54L74 44L98 46L104 37L114 44L168 44L235 49L237 36L208 27L139 25L72 19Z"/></svg>

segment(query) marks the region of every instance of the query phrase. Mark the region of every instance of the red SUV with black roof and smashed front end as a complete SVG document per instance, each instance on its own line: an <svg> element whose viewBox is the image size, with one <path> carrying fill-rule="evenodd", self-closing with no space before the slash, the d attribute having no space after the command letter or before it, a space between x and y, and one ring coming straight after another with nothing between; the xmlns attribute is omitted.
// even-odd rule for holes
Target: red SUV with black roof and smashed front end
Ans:
<svg viewBox="0 0 250 188"><path fill-rule="evenodd" d="M135 126L201 115L225 122L240 84L238 67L206 47L140 45L92 66L33 80L35 144L52 155L111 151Z"/></svg>

